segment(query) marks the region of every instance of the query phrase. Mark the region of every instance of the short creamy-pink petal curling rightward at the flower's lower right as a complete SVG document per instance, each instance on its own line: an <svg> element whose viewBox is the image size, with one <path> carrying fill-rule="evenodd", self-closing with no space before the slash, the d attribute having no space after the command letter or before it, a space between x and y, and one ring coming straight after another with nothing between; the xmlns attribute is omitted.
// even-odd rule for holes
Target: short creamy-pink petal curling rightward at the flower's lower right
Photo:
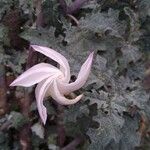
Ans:
<svg viewBox="0 0 150 150"><path fill-rule="evenodd" d="M53 86L51 87L51 97L55 101L57 101L59 104L61 104L61 105L75 104L82 98L82 96L83 96L83 94L77 96L75 99L67 99L60 93L60 91L57 87L57 82L55 80L53 81Z"/></svg>

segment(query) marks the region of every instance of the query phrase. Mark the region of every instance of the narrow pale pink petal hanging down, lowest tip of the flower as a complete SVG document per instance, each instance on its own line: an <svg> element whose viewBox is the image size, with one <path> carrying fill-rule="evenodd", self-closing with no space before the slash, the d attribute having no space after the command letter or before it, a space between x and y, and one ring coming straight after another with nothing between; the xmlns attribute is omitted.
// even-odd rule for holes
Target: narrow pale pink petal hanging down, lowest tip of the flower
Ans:
<svg viewBox="0 0 150 150"><path fill-rule="evenodd" d="M43 105L43 101L44 101L44 97L49 86L52 84L52 80L53 80L53 77L50 77L47 80L43 80L37 85L35 89L37 108L38 108L39 115L44 125L47 120L47 110L46 110L46 107Z"/></svg>

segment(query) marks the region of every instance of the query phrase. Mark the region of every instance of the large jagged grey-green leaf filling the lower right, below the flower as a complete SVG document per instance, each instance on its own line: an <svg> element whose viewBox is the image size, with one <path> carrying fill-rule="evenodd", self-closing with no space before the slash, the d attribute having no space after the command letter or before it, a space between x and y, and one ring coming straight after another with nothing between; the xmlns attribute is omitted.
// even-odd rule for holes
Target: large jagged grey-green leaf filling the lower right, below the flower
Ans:
<svg viewBox="0 0 150 150"><path fill-rule="evenodd" d="M124 81L126 82L126 80ZM87 132L91 139L90 150L95 150L98 147L101 149L109 149L110 147L120 149L121 147L121 149L126 150L133 149L140 144L141 136L137 133L139 116L136 115L131 119L124 116L124 112L132 104L140 108L149 117L150 109L147 106L149 95L141 88L125 92L127 87L131 89L133 86L130 84L131 81L124 86L125 82L119 83L122 84L122 86L119 86L120 88L118 87L119 90L116 87L116 93L109 96L105 101L100 96L95 99L94 102L98 106L98 112L93 117L93 121L98 122L99 127L96 129L89 128ZM91 102L93 102L93 98L91 98Z"/></svg>

